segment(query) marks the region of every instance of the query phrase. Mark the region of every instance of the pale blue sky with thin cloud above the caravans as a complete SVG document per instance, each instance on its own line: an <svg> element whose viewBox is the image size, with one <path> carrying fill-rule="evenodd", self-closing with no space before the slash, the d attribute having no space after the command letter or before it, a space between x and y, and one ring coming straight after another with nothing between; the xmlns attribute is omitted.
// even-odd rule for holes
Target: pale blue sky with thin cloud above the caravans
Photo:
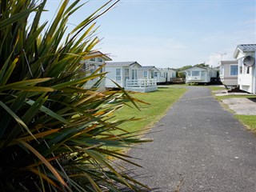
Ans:
<svg viewBox="0 0 256 192"><path fill-rule="evenodd" d="M51 20L60 2L48 0L43 19ZM87 2L70 18L69 27L106 2ZM97 26L101 42L95 49L113 62L218 66L221 60L234 60L239 44L256 43L256 0L121 0L98 18Z"/></svg>

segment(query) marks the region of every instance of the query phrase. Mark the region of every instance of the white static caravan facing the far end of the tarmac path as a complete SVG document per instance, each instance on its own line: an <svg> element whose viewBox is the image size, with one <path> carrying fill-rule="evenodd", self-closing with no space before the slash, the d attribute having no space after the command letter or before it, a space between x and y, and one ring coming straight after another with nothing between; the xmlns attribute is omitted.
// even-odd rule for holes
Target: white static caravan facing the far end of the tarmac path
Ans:
<svg viewBox="0 0 256 192"><path fill-rule="evenodd" d="M194 66L183 70L186 73L186 83L210 83L217 78L217 70L210 67Z"/></svg>

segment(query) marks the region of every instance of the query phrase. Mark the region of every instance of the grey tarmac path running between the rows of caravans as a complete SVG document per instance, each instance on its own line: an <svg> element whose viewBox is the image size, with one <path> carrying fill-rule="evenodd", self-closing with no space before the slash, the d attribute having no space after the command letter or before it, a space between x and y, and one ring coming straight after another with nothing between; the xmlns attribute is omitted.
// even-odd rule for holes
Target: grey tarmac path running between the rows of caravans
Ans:
<svg viewBox="0 0 256 192"><path fill-rule="evenodd" d="M128 168L152 191L256 191L256 138L207 87L188 87L151 132L158 130L129 152L143 168Z"/></svg>

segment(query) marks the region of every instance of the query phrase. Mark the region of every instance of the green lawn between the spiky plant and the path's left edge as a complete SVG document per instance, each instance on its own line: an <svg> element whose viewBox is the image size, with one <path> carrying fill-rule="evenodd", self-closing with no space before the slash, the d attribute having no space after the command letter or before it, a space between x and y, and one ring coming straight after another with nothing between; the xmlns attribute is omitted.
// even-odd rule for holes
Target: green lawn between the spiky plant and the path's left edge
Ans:
<svg viewBox="0 0 256 192"><path fill-rule="evenodd" d="M150 126L153 126L155 122L158 122L166 114L170 106L185 92L186 88L158 88L157 91L146 94L130 94L134 98L150 103L150 105L140 103L140 110L137 110L135 107L130 108L129 106L124 106L118 110L115 113L116 119L142 118L142 120L138 121L125 122L119 127L130 132L150 128Z"/></svg>

